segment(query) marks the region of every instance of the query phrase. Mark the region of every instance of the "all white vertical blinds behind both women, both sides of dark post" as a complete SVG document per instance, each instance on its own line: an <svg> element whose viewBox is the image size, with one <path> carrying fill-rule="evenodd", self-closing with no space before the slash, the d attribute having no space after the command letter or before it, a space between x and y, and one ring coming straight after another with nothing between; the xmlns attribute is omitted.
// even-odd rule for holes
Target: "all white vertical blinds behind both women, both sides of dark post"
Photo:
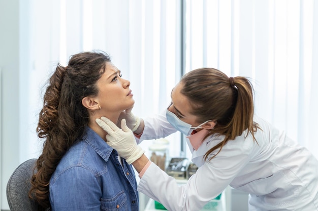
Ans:
<svg viewBox="0 0 318 211"><path fill-rule="evenodd" d="M318 126L315 1L184 0L185 52L177 0L29 3L29 12L23 13L29 15L29 27L22 28L28 42L22 48L21 70L28 72L24 75L30 82L23 89L28 106L21 105L27 118L20 132L21 159L41 151L35 128L42 88L57 62L66 65L71 55L98 49L109 53L123 77L131 80L139 116L167 107L184 54L185 72L208 66L250 77L256 113L318 156L312 133ZM172 143L178 156L179 142Z"/></svg>

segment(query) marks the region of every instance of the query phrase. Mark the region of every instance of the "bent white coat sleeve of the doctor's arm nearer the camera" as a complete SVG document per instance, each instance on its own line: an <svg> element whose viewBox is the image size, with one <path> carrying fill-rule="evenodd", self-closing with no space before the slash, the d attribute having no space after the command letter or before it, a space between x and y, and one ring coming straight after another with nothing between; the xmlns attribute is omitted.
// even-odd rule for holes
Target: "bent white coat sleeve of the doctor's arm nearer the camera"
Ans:
<svg viewBox="0 0 318 211"><path fill-rule="evenodd" d="M241 145L225 146L182 186L152 163L141 178L138 191L161 202L170 211L200 210L231 183L248 160L248 149Z"/></svg>

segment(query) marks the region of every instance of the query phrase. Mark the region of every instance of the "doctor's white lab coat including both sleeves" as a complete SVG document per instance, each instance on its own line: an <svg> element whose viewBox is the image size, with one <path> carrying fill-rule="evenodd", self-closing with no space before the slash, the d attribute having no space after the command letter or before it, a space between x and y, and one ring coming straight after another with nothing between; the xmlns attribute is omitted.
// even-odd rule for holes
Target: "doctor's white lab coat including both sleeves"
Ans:
<svg viewBox="0 0 318 211"><path fill-rule="evenodd" d="M161 138L176 130L165 113L145 120L139 141ZM154 163L141 178L138 191L160 201L168 210L200 210L228 185L245 191L249 210L318 210L318 161L304 147L289 139L284 132L259 117L262 130L243 133L230 140L210 161L203 156L224 136L208 137L197 151L192 149L192 161L199 166L187 184L179 186ZM212 152L211 155L215 154Z"/></svg>

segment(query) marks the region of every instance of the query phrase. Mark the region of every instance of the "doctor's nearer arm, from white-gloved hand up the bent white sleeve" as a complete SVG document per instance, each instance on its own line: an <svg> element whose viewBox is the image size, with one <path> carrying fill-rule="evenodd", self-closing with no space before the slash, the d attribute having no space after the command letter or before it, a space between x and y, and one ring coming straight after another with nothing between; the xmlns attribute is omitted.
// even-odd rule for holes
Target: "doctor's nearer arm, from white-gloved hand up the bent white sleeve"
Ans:
<svg viewBox="0 0 318 211"><path fill-rule="evenodd" d="M117 150L118 154L125 158L129 164L133 164L139 177L142 179L138 185L138 191L149 197L160 201L168 210L199 210L204 204L215 198L233 180L240 168L244 166L241 162L242 154L228 162L225 155L220 156L217 161L207 162L201 166L187 184L178 186L174 178L169 177L160 167L149 161L144 151L137 145L133 132L121 122L119 129L112 121L102 117L96 122L103 128L107 144ZM231 154L226 152L225 154ZM153 175L156 175L153 177ZM211 188L213 187L213 188ZM173 203L171 203L173 201Z"/></svg>

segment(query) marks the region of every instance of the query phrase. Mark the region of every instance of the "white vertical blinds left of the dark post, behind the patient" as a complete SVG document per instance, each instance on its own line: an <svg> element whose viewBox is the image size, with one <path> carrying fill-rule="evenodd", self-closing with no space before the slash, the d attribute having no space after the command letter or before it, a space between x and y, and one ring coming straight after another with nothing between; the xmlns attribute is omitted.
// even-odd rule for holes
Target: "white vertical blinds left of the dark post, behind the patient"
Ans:
<svg viewBox="0 0 318 211"><path fill-rule="evenodd" d="M30 27L22 33L30 34L24 58L32 65L23 68L30 82L22 93L29 107L20 105L21 112L28 113L20 132L21 160L36 157L42 150L35 131L44 86L57 62L67 65L73 54L91 50L108 53L123 77L131 81L136 115L146 117L167 108L171 90L181 75L179 1L29 2ZM178 156L180 135L168 139L174 149L170 152ZM150 143L145 142L144 147Z"/></svg>

